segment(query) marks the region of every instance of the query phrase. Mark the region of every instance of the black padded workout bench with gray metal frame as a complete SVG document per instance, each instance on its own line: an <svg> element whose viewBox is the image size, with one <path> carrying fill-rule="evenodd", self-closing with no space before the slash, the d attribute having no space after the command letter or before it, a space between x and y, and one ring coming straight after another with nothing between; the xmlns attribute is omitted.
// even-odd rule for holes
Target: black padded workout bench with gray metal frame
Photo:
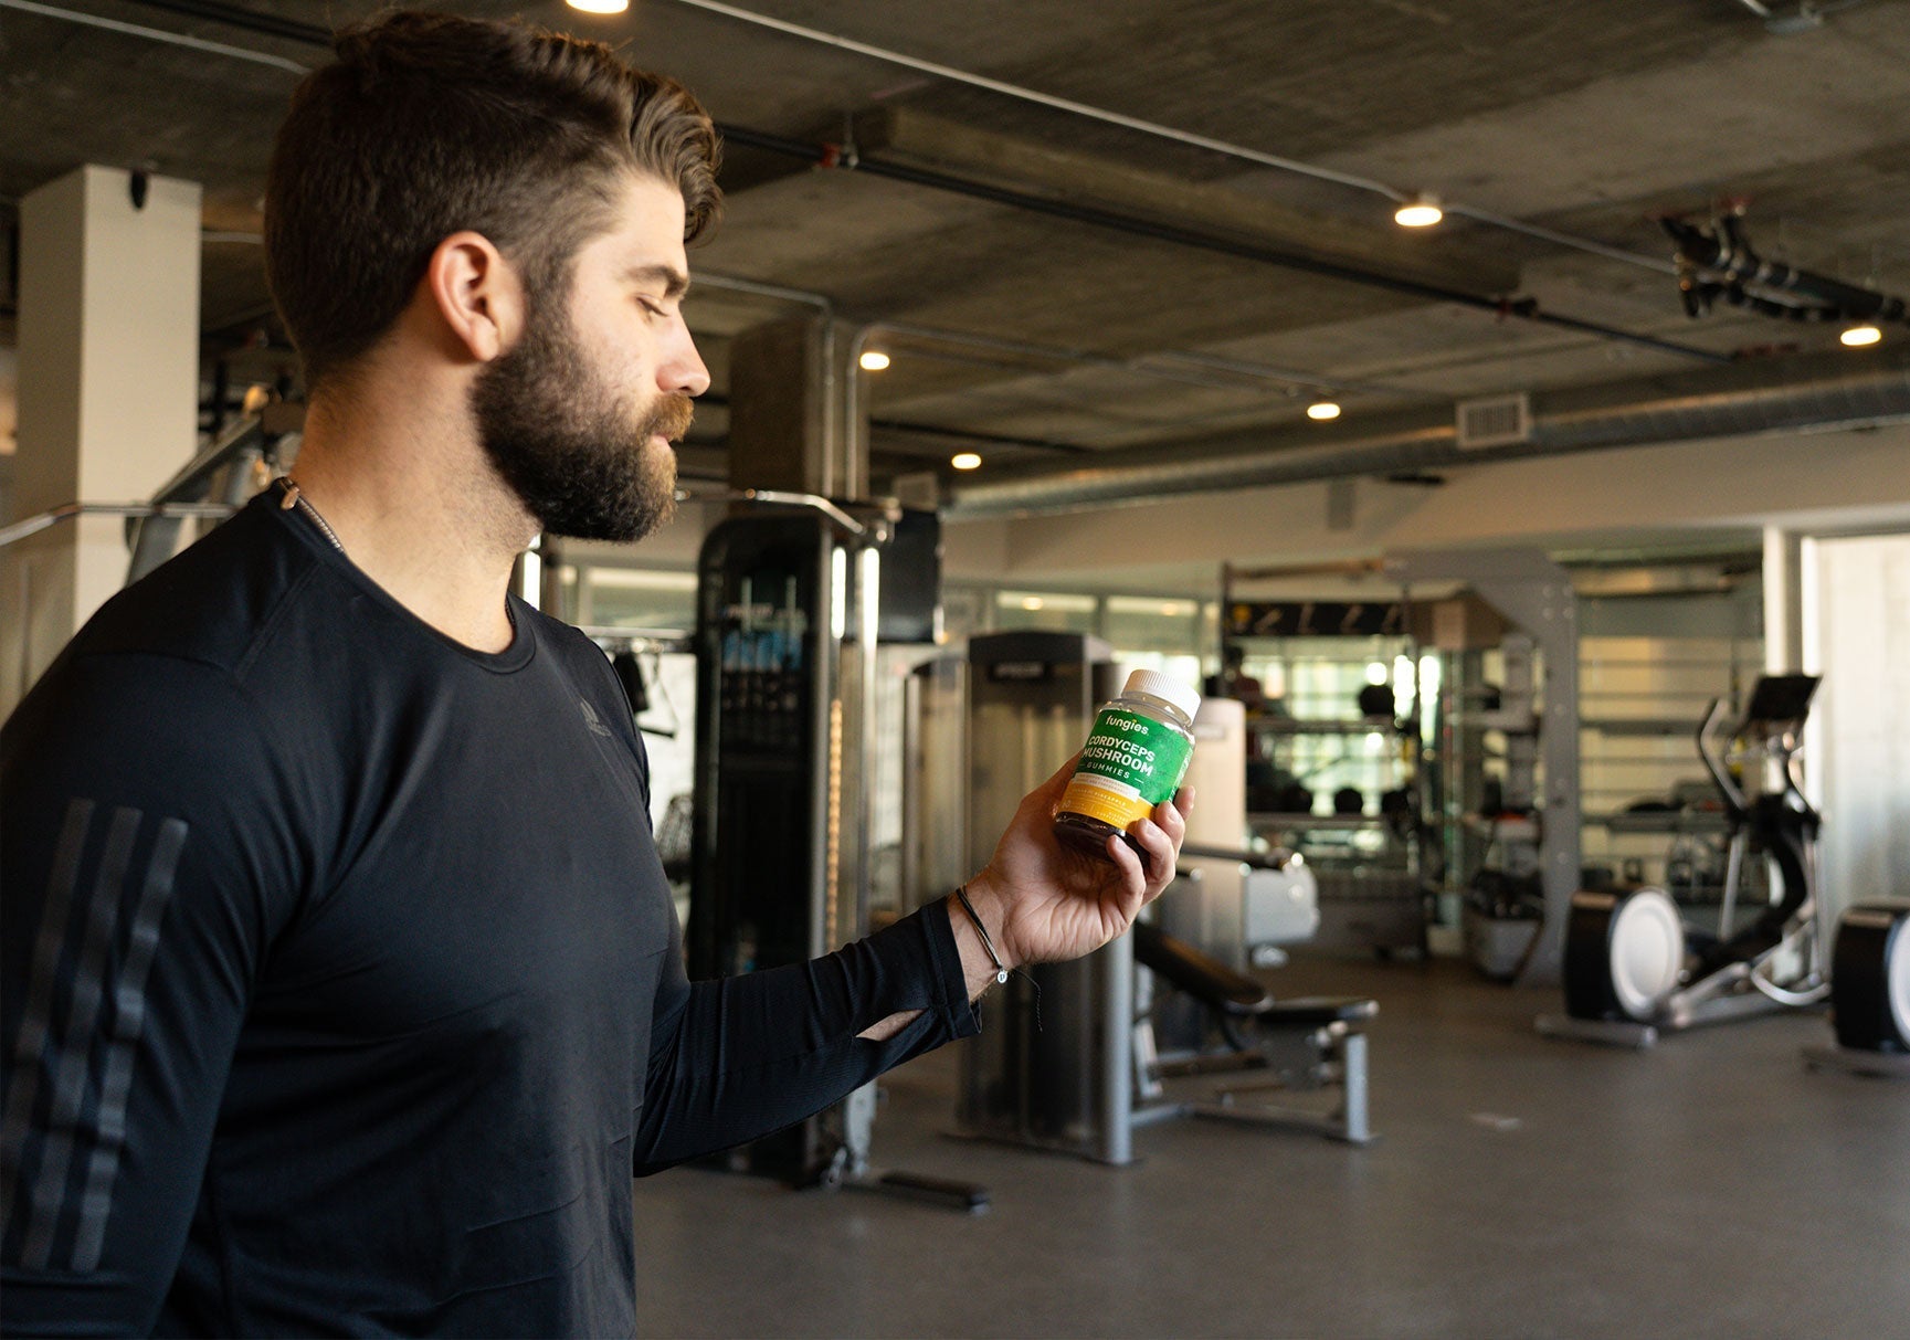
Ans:
<svg viewBox="0 0 1910 1340"><path fill-rule="evenodd" d="M1167 1117L1215 1117L1289 1124L1318 1130L1333 1140L1364 1145L1373 1138L1366 1109L1366 1023L1379 1014L1379 1002L1362 996L1297 996L1276 1000L1253 977L1234 972L1219 958L1203 954L1194 945L1175 939L1150 922L1135 922L1135 962L1199 1000L1211 1014L1232 1054L1196 1056L1186 1061L1165 1061L1154 1046L1154 1027L1146 1019L1135 1025L1135 1073L1140 1098L1150 1105L1135 1111L1136 1124ZM1243 1094L1295 1088L1282 1077L1268 1084L1224 1088L1215 1101L1165 1101L1165 1075L1194 1075L1211 1071L1272 1069L1266 1052L1242 1036L1249 1025L1263 1036L1268 1033L1306 1033L1314 1063L1305 1078L1314 1084L1339 1084L1343 1101L1333 1113L1270 1103L1240 1103Z"/></svg>

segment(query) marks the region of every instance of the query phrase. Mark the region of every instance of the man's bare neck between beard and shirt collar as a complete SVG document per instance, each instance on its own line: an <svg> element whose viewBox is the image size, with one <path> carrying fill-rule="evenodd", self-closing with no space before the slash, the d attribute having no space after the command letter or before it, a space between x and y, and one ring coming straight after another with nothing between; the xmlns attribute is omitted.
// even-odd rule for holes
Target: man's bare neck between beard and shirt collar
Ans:
<svg viewBox="0 0 1910 1340"><path fill-rule="evenodd" d="M478 651L512 641L504 592L537 523L476 441L458 387L369 376L319 397L292 468L359 571Z"/></svg>

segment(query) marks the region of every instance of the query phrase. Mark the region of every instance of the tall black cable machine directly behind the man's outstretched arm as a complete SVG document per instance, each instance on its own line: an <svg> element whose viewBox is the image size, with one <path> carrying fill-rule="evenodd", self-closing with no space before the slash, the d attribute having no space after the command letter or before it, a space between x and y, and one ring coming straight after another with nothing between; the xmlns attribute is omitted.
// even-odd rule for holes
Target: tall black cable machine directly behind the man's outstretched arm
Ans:
<svg viewBox="0 0 1910 1340"><path fill-rule="evenodd" d="M934 641L940 521L756 492L697 559L691 977L808 962L869 930L877 643ZM961 1208L980 1187L869 1164L875 1086L728 1155L795 1185Z"/></svg>

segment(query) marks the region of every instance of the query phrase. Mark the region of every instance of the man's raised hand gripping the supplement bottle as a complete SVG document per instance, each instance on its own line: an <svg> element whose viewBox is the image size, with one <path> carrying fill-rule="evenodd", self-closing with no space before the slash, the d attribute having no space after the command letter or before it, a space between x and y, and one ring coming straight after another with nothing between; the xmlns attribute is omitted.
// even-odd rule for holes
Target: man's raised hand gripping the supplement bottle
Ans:
<svg viewBox="0 0 1910 1340"><path fill-rule="evenodd" d="M1146 863L1117 834L1108 834L1104 861L1054 836L1054 809L1073 767L1075 760L1068 760L1022 800L995 855L968 882L968 901L1008 968L1062 962L1100 949L1175 878L1186 815L1194 807L1192 790L1182 788L1173 802L1156 806L1150 819L1129 827ZM980 993L993 977L993 966L980 941L972 939L974 928L961 905L951 903L949 922L963 964L982 970L980 979L970 972L970 985Z"/></svg>

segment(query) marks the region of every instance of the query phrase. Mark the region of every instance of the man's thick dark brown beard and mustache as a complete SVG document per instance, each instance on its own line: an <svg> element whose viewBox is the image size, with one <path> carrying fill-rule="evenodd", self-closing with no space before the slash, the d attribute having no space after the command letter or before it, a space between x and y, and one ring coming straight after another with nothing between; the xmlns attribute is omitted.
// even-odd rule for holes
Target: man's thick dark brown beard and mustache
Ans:
<svg viewBox="0 0 1910 1340"><path fill-rule="evenodd" d="M478 441L537 523L581 540L640 540L676 510L676 441L690 429L688 395L659 395L646 412L619 395L560 317L529 313L514 349L472 389Z"/></svg>

